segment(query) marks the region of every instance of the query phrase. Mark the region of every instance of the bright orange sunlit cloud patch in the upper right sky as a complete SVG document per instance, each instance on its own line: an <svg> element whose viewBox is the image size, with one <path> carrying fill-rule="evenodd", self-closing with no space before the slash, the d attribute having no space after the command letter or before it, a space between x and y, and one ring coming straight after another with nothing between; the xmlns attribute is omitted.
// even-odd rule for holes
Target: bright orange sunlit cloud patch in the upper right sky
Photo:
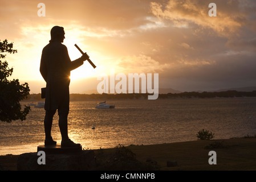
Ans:
<svg viewBox="0 0 256 182"><path fill-rule="evenodd" d="M243 25L241 20L244 14L241 11L237 11L234 3L230 3L230 1L215 1L217 4L217 17L210 17L208 15L210 2L171 0L165 6L158 2L152 2L151 10L155 16L170 20L173 26L189 28L190 24L194 23L200 26L197 30L210 28L222 36L234 34ZM226 11L228 9L233 11Z"/></svg>

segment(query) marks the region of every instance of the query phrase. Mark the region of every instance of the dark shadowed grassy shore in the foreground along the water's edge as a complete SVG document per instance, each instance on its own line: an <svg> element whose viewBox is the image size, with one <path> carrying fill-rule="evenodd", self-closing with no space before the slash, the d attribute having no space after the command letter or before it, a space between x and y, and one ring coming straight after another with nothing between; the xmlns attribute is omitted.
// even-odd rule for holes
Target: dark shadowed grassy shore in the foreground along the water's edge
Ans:
<svg viewBox="0 0 256 182"><path fill-rule="evenodd" d="M157 170L161 171L256 170L256 138L195 140L153 145L131 145L124 148L135 154L135 158L139 162L153 163L157 166ZM93 151L96 159L104 162L115 150L116 148L103 148ZM208 163L210 158L208 153L212 150L217 153L216 165ZM17 170L18 156L0 156L0 170ZM167 161L176 161L178 166L167 167ZM116 170L120 170L120 168Z"/></svg>

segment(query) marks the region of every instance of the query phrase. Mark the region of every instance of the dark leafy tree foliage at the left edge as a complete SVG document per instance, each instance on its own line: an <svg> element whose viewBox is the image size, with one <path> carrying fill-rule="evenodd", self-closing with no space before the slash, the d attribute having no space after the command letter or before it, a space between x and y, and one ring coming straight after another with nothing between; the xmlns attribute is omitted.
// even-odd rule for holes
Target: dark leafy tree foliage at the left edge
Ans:
<svg viewBox="0 0 256 182"><path fill-rule="evenodd" d="M29 114L30 107L22 108L19 101L29 94L29 84L20 84L18 79L8 80L13 74L13 68L8 67L7 61L1 60L6 57L4 53L17 53L17 50L13 49L13 43L0 40L0 121L11 122L17 119L23 121Z"/></svg>

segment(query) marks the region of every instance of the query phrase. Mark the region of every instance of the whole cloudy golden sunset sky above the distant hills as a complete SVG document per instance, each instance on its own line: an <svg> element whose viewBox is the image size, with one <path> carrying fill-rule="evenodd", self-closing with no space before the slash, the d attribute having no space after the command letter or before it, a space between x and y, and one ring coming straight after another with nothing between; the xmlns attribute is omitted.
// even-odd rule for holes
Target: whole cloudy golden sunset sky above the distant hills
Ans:
<svg viewBox="0 0 256 182"><path fill-rule="evenodd" d="M38 3L46 16L38 16ZM216 3L217 16L208 7ZM42 49L53 26L64 27L71 60L90 55L71 72L71 93L96 90L101 73L159 73L159 88L217 90L256 86L256 1L253 0L72 0L1 1L0 40L14 42L7 55L12 78L45 86Z"/></svg>

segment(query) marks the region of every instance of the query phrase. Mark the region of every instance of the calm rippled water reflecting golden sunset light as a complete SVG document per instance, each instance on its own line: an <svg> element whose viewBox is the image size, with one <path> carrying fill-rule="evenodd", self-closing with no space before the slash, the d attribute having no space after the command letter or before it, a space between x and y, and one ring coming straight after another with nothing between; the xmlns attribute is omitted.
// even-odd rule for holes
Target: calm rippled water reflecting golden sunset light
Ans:
<svg viewBox="0 0 256 182"><path fill-rule="evenodd" d="M196 140L201 129L215 133L214 139L256 134L256 98L125 100L108 104L116 108L95 109L95 101L70 103L68 133L84 149ZM36 147L44 143L44 109L31 109L26 121L0 122L0 155L36 152ZM61 142L57 113L52 137Z"/></svg>

